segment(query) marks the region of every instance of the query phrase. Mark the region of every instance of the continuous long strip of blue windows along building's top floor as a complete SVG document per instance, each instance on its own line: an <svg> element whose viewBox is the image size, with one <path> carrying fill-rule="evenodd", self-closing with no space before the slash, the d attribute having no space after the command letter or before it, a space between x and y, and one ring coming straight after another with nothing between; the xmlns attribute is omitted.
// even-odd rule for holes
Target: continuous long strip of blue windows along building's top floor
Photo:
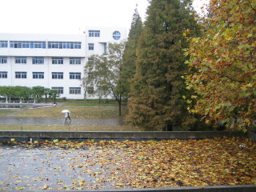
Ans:
<svg viewBox="0 0 256 192"><path fill-rule="evenodd" d="M0 48L81 49L82 42L0 41Z"/></svg>

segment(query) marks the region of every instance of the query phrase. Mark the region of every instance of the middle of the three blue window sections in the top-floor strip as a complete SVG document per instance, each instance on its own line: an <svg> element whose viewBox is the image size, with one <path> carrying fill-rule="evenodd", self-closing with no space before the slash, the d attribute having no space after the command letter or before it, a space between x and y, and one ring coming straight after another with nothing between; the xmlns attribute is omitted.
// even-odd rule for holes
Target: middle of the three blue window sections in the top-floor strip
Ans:
<svg viewBox="0 0 256 192"><path fill-rule="evenodd" d="M38 48L46 49L46 42L35 41L10 41L10 48Z"/></svg>

